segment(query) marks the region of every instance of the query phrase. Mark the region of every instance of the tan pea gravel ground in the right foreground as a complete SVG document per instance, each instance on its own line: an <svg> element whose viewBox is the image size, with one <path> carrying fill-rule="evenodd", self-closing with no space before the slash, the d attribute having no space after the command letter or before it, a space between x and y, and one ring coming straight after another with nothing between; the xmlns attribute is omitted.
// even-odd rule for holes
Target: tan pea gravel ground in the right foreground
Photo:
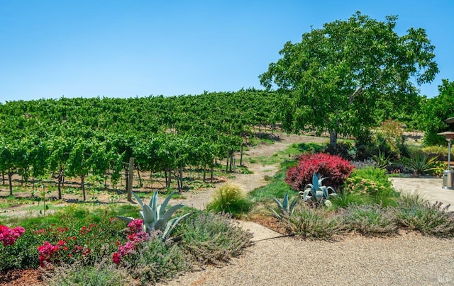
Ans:
<svg viewBox="0 0 454 286"><path fill-rule="evenodd" d="M454 240L401 231L391 238L301 241L248 224L255 244L223 267L161 285L454 285ZM260 239L257 239L257 238Z"/></svg>

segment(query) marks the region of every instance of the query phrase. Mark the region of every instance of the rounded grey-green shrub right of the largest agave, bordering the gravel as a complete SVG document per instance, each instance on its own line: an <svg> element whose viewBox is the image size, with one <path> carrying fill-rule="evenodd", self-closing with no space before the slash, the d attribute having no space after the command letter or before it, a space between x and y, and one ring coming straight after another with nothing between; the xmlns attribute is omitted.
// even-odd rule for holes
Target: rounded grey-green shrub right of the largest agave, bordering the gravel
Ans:
<svg viewBox="0 0 454 286"><path fill-rule="evenodd" d="M179 245L194 261L204 264L226 263L252 244L252 234L232 224L227 214L193 214L191 219L184 220L176 233L182 239Z"/></svg>

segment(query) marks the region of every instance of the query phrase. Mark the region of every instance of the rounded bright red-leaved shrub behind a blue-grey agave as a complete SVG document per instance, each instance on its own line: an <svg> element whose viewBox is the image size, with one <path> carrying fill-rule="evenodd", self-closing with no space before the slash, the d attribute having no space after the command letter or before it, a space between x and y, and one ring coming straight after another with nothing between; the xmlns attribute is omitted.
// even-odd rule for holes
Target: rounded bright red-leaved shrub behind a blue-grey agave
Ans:
<svg viewBox="0 0 454 286"><path fill-rule="evenodd" d="M323 178L323 185L338 190L346 178L350 176L353 165L340 156L330 154L303 154L297 166L289 168L285 182L294 190L304 190L304 186L312 183L314 172Z"/></svg>

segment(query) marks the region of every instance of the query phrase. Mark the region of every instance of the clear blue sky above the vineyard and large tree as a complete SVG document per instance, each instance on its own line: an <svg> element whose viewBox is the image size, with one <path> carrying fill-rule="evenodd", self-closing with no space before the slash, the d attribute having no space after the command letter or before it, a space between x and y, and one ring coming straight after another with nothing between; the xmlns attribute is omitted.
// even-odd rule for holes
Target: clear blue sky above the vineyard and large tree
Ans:
<svg viewBox="0 0 454 286"><path fill-rule="evenodd" d="M0 0L0 103L261 88L287 41L361 11L425 28L454 81L454 1Z"/></svg>

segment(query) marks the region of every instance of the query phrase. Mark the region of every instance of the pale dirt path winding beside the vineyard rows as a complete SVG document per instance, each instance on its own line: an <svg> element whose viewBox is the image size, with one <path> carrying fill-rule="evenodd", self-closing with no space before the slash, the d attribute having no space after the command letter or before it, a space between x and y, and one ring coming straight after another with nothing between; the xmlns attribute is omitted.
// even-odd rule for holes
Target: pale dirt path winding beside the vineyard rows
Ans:
<svg viewBox="0 0 454 286"><path fill-rule="evenodd" d="M267 184L265 181L265 176L274 176L277 171L279 171L279 164L274 165L262 165L259 162L255 163L257 160L253 160L254 163L250 163L250 158L257 158L257 157L270 157L276 154L278 151L284 151L293 143L309 143L309 142L328 142L328 139L321 138L321 137L312 137L312 136L305 136L305 135L285 135L279 134L278 139L274 143L262 143L258 146L250 149L249 151L245 151L243 154L243 160L245 166L248 167L248 170L252 173L250 174L243 174L243 173L235 173L233 174L232 178L226 178L226 181L216 185L215 188L210 188L207 190L202 190L197 193L183 193L184 199L182 200L173 200L172 203L179 203L181 202L188 207L194 207L199 210L203 210L204 207L211 201L212 195L214 191L218 188L221 188L222 185L226 183L235 183L239 185L243 190L248 193L251 190L255 190L256 188L260 188ZM239 155L236 156L239 158Z"/></svg>

